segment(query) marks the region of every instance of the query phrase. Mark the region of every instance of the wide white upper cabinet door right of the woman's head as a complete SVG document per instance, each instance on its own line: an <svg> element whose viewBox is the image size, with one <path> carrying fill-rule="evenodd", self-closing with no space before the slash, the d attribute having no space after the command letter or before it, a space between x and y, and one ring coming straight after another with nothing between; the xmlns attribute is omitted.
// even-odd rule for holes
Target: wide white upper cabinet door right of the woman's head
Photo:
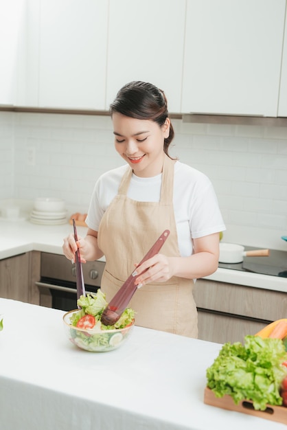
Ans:
<svg viewBox="0 0 287 430"><path fill-rule="evenodd" d="M277 116L285 0L187 0L183 113Z"/></svg>

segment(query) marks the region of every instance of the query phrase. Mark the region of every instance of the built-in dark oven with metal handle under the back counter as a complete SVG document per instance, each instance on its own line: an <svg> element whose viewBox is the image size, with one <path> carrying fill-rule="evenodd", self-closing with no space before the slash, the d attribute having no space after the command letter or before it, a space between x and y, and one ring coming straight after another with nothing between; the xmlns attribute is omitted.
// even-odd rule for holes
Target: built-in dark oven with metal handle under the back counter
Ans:
<svg viewBox="0 0 287 430"><path fill-rule="evenodd" d="M96 293L100 288L105 263L102 261L82 264L86 293ZM36 282L41 306L61 310L77 308L76 264L65 256L41 253L41 280Z"/></svg>

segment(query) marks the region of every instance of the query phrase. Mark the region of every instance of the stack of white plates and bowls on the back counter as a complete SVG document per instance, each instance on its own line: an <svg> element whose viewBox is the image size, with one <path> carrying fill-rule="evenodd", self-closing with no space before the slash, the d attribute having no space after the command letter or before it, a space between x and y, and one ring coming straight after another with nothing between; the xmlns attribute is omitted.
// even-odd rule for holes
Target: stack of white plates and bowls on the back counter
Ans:
<svg viewBox="0 0 287 430"><path fill-rule="evenodd" d="M67 223L65 201L50 197L38 197L34 201L34 208L30 214L30 221L34 224L57 225Z"/></svg>

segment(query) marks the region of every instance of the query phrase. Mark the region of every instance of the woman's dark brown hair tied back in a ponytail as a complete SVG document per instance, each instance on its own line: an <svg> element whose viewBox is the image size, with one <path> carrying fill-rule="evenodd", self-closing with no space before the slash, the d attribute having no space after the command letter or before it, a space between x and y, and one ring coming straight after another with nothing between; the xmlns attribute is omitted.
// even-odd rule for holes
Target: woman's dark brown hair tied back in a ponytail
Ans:
<svg viewBox="0 0 287 430"><path fill-rule="evenodd" d="M124 85L111 103L111 115L113 116L115 112L137 118L137 120L152 120L159 126L163 126L168 118L168 100L166 100L165 93L154 85L148 82L133 81ZM164 139L163 144L166 155L168 155L168 148L173 138L174 129L170 124L170 135Z"/></svg>

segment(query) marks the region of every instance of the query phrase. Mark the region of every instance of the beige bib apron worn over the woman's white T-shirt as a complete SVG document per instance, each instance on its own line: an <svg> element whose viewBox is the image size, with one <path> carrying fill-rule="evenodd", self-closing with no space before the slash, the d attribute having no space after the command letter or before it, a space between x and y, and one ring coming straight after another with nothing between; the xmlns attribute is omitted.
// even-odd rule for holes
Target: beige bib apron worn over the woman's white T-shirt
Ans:
<svg viewBox="0 0 287 430"><path fill-rule="evenodd" d="M135 201L126 196L132 173L127 168L98 232L98 245L106 256L101 289L108 302L165 229L170 230L170 236L160 252L169 257L180 256L172 202L174 161L165 156L158 203ZM136 312L135 324L197 337L193 286L193 280L177 277L142 286L130 302Z"/></svg>

